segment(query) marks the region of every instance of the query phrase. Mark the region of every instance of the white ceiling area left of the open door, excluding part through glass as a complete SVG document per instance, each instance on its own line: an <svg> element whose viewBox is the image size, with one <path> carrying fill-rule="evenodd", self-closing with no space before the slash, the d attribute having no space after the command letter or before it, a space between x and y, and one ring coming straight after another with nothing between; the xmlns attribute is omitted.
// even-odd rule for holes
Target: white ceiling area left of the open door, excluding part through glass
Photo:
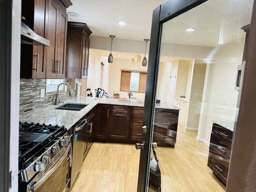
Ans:
<svg viewBox="0 0 256 192"><path fill-rule="evenodd" d="M85 22L92 35L120 39L150 39L152 11L165 0L71 0L67 12L79 17L68 17L69 21ZM124 21L126 26L119 26ZM109 37L110 38L110 37Z"/></svg>

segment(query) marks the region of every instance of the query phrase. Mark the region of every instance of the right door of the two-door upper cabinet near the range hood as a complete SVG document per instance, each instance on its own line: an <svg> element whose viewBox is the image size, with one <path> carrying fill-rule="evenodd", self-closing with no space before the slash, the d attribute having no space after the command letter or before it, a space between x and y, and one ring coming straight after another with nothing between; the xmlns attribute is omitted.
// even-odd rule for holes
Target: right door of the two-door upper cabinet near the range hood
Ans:
<svg viewBox="0 0 256 192"><path fill-rule="evenodd" d="M59 30L58 30L58 57L59 73L57 79L65 78L65 63L66 63L66 42L67 42L67 18L66 10L59 8Z"/></svg>

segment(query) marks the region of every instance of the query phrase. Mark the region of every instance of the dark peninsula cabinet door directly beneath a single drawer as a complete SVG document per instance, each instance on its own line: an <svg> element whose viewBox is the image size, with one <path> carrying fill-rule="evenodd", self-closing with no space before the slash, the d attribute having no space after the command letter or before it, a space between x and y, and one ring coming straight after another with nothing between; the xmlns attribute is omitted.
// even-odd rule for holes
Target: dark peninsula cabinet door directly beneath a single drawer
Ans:
<svg viewBox="0 0 256 192"><path fill-rule="evenodd" d="M130 114L111 113L108 139L128 139Z"/></svg>

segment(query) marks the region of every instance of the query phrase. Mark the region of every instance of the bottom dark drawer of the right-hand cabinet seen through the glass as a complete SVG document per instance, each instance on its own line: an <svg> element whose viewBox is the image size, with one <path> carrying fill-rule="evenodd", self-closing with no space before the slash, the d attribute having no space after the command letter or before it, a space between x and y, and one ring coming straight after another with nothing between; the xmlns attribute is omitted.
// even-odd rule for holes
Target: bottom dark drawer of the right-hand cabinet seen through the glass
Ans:
<svg viewBox="0 0 256 192"><path fill-rule="evenodd" d="M229 161L226 158L220 157L219 155L211 154L209 167L224 183L228 178L228 164Z"/></svg>

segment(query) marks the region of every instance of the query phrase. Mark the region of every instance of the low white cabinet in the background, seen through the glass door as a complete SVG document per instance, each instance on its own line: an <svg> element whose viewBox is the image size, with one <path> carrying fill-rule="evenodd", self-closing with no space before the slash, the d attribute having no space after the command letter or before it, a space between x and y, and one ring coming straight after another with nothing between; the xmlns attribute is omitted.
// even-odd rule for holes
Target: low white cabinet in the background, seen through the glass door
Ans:
<svg viewBox="0 0 256 192"><path fill-rule="evenodd" d="M178 99L174 98L174 105L176 107L179 107L181 110L179 112L179 119L178 122L184 126L186 129L187 126L187 112L188 112L188 102L185 101L184 99Z"/></svg>

